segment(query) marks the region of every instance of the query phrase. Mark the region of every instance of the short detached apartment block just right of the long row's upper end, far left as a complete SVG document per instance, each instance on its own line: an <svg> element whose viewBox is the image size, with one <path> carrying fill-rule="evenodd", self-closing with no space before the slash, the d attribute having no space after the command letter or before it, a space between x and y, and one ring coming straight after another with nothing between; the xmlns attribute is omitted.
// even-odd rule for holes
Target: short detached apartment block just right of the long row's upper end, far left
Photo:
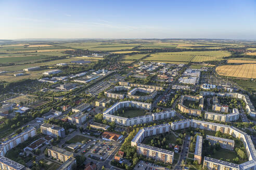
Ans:
<svg viewBox="0 0 256 170"><path fill-rule="evenodd" d="M55 124L44 123L41 125L40 129L45 135L65 137L65 129Z"/></svg>

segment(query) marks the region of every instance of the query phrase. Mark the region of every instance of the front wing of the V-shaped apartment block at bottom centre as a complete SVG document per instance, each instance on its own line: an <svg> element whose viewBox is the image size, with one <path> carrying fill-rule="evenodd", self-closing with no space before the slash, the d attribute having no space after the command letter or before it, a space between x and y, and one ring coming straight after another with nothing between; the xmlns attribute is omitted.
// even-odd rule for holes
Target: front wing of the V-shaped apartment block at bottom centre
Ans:
<svg viewBox="0 0 256 170"><path fill-rule="evenodd" d="M172 164L174 157L174 152L170 150L165 150L140 143L137 145L137 153L170 164Z"/></svg>

